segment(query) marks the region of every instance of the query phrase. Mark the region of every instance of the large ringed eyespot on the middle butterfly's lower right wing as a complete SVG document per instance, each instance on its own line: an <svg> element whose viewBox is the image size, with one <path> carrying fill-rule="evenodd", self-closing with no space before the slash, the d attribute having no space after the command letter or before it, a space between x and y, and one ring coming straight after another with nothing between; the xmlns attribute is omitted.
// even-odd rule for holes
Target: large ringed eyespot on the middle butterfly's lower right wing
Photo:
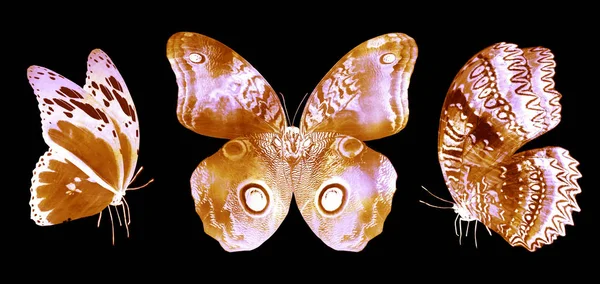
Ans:
<svg viewBox="0 0 600 284"><path fill-rule="evenodd" d="M335 217L342 212L347 200L347 187L337 180L324 182L315 194L315 204L319 212L327 217Z"/></svg>

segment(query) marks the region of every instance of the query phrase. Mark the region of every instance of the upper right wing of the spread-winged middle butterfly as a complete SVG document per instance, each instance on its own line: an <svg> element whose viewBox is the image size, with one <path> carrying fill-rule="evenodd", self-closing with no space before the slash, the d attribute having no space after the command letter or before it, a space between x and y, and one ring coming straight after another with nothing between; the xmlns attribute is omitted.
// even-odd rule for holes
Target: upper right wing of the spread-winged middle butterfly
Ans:
<svg viewBox="0 0 600 284"><path fill-rule="evenodd" d="M415 41L401 33L358 45L310 95L301 131L337 132L367 141L402 130L408 120L407 90L416 59Z"/></svg>

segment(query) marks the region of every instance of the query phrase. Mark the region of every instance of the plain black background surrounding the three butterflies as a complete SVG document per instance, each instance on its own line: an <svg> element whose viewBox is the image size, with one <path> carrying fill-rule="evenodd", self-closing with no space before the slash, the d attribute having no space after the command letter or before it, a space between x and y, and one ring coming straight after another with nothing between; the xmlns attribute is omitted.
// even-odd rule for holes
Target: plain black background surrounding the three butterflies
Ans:
<svg viewBox="0 0 600 284"><path fill-rule="evenodd" d="M438 17L429 12L412 14L397 4L381 6L369 12L374 17L364 18L361 15L366 12L360 8L351 13L312 10L294 16L292 4L270 14L231 7L213 10L200 2L186 5L189 6L173 6L178 9L165 6L163 12L168 17L150 16L141 10L114 13L116 9L102 5L96 10L56 13L38 8L24 10L28 17L23 21L29 26L11 29L16 33L8 37L14 39L9 45L10 56L18 66L8 70L15 76L11 84L17 88L10 96L18 99L19 131L27 143L17 142L18 149L22 149L18 152L21 163L11 169L14 175L9 178L16 180L17 186L9 190L17 192L16 198L11 199L16 207L11 218L24 228L14 234L20 236L18 241L25 242L23 247L28 253L24 255L65 253L72 256L71 264L107 257L119 267L132 262L173 264L185 259L194 259L198 265L244 264L265 258L284 262L345 259L359 264L384 262L381 257L391 263L427 259L411 263L438 267L451 263L462 266L462 257L467 257L464 263L468 267L477 262L474 257L510 257L539 263L583 257L597 250L592 232L596 224L593 216L598 214L594 213L596 200L591 198L597 190L593 182L597 152L586 145L595 139L597 123L590 106L598 95L597 88L592 87L597 85L591 81L592 73L587 71L597 65L589 42L589 18L565 15L567 12L561 7L544 7L534 15L522 10L499 10L496 14L465 10ZM214 19L208 19L209 16ZM419 55L409 87L407 127L394 136L367 143L386 155L398 173L397 191L383 233L362 252L335 251L311 232L293 201L281 227L253 251L228 253L206 235L194 210L189 178L198 163L215 153L225 140L198 135L177 120L177 85L166 58L166 43L179 31L208 35L241 54L283 94L290 115L302 97L356 45L388 32L413 37ZM419 203L425 200L444 205L421 189L422 185L451 199L437 160L439 115L451 81L473 55L502 41L520 47L544 46L553 51L557 62L556 89L563 94L563 118L554 130L524 149L564 147L581 162L579 170L583 174L579 180L583 193L577 196L582 212L574 213L575 226L567 227L566 237L559 237L534 253L511 247L498 234L488 235L481 224L477 231L478 248L474 245L473 224L460 245L454 235L453 211ZM51 227L38 227L29 219L31 172L47 146L26 69L29 65L41 65L83 85L87 56L94 48L104 50L112 58L137 108L141 135L138 166L144 170L135 184L155 179L150 186L127 193L132 215L130 237L126 237L124 227L115 227L114 246L108 214L104 214L100 228L96 227L96 217ZM467 267L460 273L468 274Z"/></svg>

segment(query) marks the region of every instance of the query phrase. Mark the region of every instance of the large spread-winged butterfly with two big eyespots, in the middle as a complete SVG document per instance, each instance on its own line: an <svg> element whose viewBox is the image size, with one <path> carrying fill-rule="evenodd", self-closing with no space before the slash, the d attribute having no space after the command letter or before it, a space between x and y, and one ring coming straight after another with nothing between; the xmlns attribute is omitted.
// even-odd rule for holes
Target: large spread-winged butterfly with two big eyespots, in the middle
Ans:
<svg viewBox="0 0 600 284"><path fill-rule="evenodd" d="M292 196L330 248L361 251L382 232L397 173L365 141L407 123L417 58L411 37L389 33L348 52L308 97L299 127L286 122L265 78L223 43L179 32L168 40L167 57L179 122L229 139L190 179L204 231L224 250L259 247L283 222Z"/></svg>

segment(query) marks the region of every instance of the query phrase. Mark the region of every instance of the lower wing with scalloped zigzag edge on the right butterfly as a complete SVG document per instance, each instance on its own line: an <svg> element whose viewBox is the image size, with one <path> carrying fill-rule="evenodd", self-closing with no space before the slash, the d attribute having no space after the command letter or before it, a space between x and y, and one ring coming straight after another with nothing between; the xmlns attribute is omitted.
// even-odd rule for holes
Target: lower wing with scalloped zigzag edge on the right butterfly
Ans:
<svg viewBox="0 0 600 284"><path fill-rule="evenodd" d="M572 212L580 211L577 165L560 147L520 152L476 183L478 193L469 205L511 245L535 251L564 236L565 226L573 225Z"/></svg>

